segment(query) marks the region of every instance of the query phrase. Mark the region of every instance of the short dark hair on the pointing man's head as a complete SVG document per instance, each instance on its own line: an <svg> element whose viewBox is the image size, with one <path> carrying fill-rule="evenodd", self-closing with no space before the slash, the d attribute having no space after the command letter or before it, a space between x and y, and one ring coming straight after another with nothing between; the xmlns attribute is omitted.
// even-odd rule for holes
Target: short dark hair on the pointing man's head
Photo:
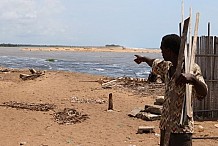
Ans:
<svg viewBox="0 0 218 146"><path fill-rule="evenodd" d="M162 38L161 48L171 49L177 55L179 54L181 38L177 34L168 34Z"/></svg>

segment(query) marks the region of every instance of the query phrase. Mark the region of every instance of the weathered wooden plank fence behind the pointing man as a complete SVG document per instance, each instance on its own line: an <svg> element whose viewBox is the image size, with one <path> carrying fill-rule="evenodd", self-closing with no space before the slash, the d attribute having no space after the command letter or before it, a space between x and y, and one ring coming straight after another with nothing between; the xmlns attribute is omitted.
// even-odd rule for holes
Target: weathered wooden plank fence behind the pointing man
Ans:
<svg viewBox="0 0 218 146"><path fill-rule="evenodd" d="M205 40L206 39L206 40ZM205 46L206 42L206 47ZM217 54L217 37L212 37L212 36L207 36L207 37L202 37L201 39L201 51L198 50L198 55L196 55L198 64L201 66L203 76L205 77L205 81L208 85L208 95L206 99L204 100L204 106L202 106L201 109L203 110L213 110L218 106L218 80L217 80L217 62L218 62L218 54ZM203 48L206 48L203 50ZM202 52L205 52L202 53ZM201 61L201 62L200 62ZM203 62L204 61L204 62ZM200 62L200 63L199 63ZM206 65L204 65L206 64ZM202 65L204 65L202 67ZM199 109L202 105L202 102L195 101L195 110ZM217 112L211 112L211 113L206 113L207 116L210 116L211 118L214 118L218 116Z"/></svg>

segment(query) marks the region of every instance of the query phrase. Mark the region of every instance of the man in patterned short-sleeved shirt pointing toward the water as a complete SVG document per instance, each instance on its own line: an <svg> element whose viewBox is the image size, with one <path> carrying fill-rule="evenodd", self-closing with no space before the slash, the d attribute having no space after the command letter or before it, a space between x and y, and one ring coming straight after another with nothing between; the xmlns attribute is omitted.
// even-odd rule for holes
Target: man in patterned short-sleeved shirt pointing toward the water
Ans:
<svg viewBox="0 0 218 146"><path fill-rule="evenodd" d="M207 85L201 75L200 67L193 66L193 74L181 73L175 79L173 74L176 71L181 38L176 34L169 34L162 38L161 51L164 60L150 59L135 55L136 63L146 62L152 67L154 74L161 75L165 82L165 101L160 120L160 146L164 145L164 137L167 126L171 126L169 146L192 146L193 116L188 118L185 125L180 124L182 105L185 96L186 84L193 85L192 98L202 100L207 95ZM184 69L183 71L184 72Z"/></svg>

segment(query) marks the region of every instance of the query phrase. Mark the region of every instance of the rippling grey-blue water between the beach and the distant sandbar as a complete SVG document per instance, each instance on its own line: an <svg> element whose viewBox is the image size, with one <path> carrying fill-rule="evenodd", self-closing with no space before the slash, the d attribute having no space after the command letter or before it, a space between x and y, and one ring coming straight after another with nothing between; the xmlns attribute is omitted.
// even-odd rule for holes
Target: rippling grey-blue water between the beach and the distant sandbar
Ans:
<svg viewBox="0 0 218 146"><path fill-rule="evenodd" d="M150 58L162 58L160 53L137 53ZM147 78L151 68L136 64L135 53L115 52L45 52L22 51L19 47L0 47L0 66L62 70L109 77ZM54 59L54 61L48 61Z"/></svg>

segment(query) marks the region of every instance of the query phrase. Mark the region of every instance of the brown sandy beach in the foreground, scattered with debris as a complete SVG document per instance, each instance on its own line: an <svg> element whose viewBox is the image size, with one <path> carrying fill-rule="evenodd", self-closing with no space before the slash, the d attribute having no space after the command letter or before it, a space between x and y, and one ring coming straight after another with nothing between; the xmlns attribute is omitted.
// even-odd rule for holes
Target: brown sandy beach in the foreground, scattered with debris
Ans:
<svg viewBox="0 0 218 146"><path fill-rule="evenodd" d="M0 72L0 104L52 104L53 110L35 111L0 106L1 146L157 146L159 121L144 121L127 114L135 107L153 104L160 92L139 94L131 88L102 88L105 77L46 71L34 80L21 80L28 70ZM147 84L146 86L150 86ZM107 111L112 93L114 110ZM73 99L78 99L77 102ZM87 102L88 101L88 102ZM88 119L76 124L59 124L54 113L76 109ZM196 122L194 136L218 136L217 121ZM203 126L198 129L199 125ZM139 126L155 126L155 133L137 134ZM193 146L216 146L217 140L193 140Z"/></svg>

